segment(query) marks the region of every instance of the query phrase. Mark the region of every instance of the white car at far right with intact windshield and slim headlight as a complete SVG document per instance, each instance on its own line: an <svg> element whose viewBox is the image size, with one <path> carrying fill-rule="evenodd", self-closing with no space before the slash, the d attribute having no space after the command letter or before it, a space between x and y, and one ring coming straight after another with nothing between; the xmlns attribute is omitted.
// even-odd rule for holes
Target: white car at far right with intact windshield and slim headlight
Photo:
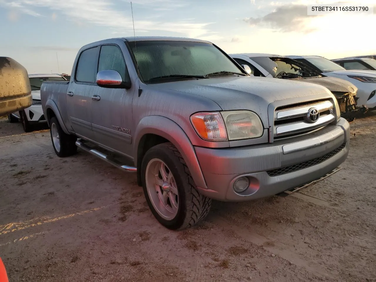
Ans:
<svg viewBox="0 0 376 282"><path fill-rule="evenodd" d="M351 82L358 88L358 105L376 110L376 71L346 70L340 65L320 56L286 56L314 68L326 76L338 77Z"/></svg>

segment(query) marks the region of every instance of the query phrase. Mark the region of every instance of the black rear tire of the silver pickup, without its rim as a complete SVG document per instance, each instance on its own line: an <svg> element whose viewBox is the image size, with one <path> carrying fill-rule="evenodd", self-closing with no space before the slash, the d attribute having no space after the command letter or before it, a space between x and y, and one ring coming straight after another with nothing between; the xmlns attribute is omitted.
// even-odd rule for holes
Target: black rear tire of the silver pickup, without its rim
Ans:
<svg viewBox="0 0 376 282"><path fill-rule="evenodd" d="M59 136L59 144L60 148L57 149L55 147L54 139L53 139L53 128L56 127L56 130L58 132ZM65 133L60 124L59 121L56 117L52 117L50 120L50 135L51 135L51 141L52 141L52 146L53 149L55 150L56 155L58 155L61 158L72 156L77 152L77 146L76 146L76 141L77 137L75 135L70 135Z"/></svg>

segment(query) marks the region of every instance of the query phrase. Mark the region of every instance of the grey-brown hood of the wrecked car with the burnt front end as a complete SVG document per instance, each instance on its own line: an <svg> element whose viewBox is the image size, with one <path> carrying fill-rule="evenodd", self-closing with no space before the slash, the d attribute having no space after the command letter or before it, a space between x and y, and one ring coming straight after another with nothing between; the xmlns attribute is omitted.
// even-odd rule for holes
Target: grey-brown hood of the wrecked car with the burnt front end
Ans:
<svg viewBox="0 0 376 282"><path fill-rule="evenodd" d="M351 82L337 77L307 77L299 79L298 81L318 84L326 87L332 92L355 93L356 91L358 91L358 88Z"/></svg>

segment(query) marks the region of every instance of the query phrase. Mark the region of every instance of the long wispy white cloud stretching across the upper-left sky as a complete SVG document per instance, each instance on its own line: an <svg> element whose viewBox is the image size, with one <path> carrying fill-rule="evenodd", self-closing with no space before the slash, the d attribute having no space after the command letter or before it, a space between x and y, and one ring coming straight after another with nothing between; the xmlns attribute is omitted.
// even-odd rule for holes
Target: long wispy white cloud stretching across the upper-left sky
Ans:
<svg viewBox="0 0 376 282"><path fill-rule="evenodd" d="M151 3L151 1L148 1L150 0L140 0L138 3ZM156 3L167 5L167 3L173 2L172 0L157 0ZM112 28L112 31L117 32L133 33L130 5L127 7L123 4L121 5L123 8L119 9L118 6L115 6L114 3L108 0L0 0L0 5L18 8L23 13L32 11L31 8L49 8L52 11L59 11L64 16L67 16L68 19L75 22L106 26ZM134 9L133 12L135 12ZM38 16L38 14L32 12L29 14ZM137 15L135 17L136 32L139 32L139 30L161 30L183 33L185 36L188 35L190 37L211 34L211 31L207 28L208 24L211 23L194 23L188 20L175 22L165 19L150 20L147 17L142 19L142 16L145 17L146 15Z"/></svg>

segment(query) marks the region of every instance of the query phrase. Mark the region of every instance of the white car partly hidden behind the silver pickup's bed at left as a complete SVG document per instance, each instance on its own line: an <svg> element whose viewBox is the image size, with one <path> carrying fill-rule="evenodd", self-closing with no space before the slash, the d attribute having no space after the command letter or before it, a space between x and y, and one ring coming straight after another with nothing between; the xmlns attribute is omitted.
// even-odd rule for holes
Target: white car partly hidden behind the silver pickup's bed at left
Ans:
<svg viewBox="0 0 376 282"><path fill-rule="evenodd" d="M33 103L29 108L8 115L10 123L22 122L25 132L33 131L36 124L47 123L41 104L41 85L44 81L62 81L60 74L29 74Z"/></svg>

